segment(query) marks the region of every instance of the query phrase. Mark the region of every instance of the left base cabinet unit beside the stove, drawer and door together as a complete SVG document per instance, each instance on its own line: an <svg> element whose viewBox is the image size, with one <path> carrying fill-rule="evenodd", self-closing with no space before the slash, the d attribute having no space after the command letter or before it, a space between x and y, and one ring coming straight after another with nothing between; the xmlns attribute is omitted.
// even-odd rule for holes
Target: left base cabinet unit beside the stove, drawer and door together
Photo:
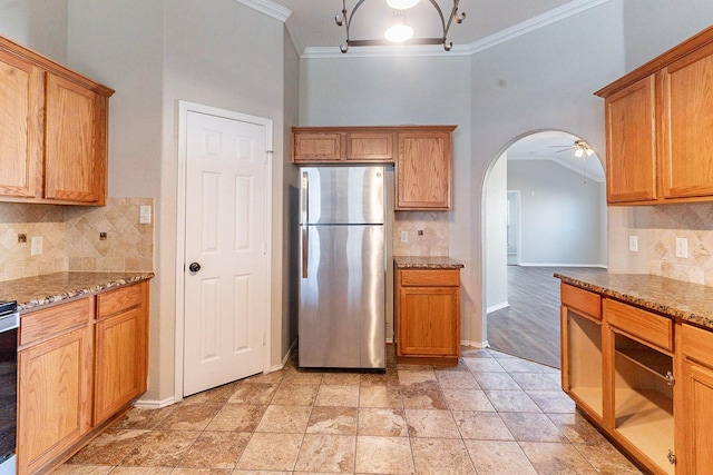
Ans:
<svg viewBox="0 0 713 475"><path fill-rule="evenodd" d="M92 316L89 298L23 316L28 326L20 326L18 353L19 474L35 473L91 427Z"/></svg>

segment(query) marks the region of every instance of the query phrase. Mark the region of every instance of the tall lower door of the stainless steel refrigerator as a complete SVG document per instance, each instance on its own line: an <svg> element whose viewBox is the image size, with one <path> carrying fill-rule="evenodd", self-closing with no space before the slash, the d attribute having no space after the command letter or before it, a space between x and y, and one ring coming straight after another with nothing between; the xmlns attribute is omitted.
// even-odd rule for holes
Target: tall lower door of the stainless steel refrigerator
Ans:
<svg viewBox="0 0 713 475"><path fill-rule="evenodd" d="M384 227L303 227L300 366L385 368Z"/></svg>

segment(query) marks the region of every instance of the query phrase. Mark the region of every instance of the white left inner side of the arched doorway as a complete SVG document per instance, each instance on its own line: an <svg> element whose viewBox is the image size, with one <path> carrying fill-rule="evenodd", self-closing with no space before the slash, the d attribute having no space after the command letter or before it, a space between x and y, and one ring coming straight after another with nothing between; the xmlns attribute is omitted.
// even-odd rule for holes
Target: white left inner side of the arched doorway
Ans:
<svg viewBox="0 0 713 475"><path fill-rule="evenodd" d="M486 311L508 305L508 157L502 154L486 185Z"/></svg>

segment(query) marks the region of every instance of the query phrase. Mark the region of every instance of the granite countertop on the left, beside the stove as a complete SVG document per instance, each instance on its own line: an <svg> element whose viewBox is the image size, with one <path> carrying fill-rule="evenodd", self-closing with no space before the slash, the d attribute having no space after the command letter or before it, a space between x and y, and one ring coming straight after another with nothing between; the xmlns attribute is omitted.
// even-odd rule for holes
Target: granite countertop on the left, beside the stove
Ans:
<svg viewBox="0 0 713 475"><path fill-rule="evenodd" d="M0 283L0 299L17 300L20 311L148 280L154 273L56 273Z"/></svg>

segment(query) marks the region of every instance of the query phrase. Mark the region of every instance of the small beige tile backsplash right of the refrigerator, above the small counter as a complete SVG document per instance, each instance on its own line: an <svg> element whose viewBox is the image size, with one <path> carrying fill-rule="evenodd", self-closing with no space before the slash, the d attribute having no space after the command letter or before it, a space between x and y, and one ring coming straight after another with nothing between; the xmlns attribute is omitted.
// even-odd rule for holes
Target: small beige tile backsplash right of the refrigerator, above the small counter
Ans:
<svg viewBox="0 0 713 475"><path fill-rule="evenodd" d="M401 243L402 231L408 234L407 243ZM395 211L393 255L448 256L448 212Z"/></svg>

